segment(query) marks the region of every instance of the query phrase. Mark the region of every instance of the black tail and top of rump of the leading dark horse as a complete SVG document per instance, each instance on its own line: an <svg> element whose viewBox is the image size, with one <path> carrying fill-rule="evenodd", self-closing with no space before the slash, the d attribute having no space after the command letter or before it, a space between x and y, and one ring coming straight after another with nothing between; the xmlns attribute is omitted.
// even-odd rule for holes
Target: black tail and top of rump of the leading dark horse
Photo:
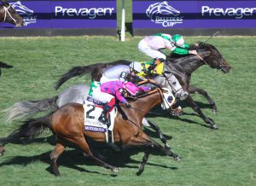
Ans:
<svg viewBox="0 0 256 186"><path fill-rule="evenodd" d="M96 63L88 66L83 67L73 67L71 68L67 73L64 73L61 75L61 78L57 81L55 84L55 90L59 89L61 87L61 84L64 84L69 78L73 78L76 76L83 76L86 73L90 73L90 77L94 80L98 80L98 78L94 78L94 73L96 69L105 69L108 67L113 67L115 65L129 65L130 61L125 60L119 60L119 61L113 61L108 63Z"/></svg>

